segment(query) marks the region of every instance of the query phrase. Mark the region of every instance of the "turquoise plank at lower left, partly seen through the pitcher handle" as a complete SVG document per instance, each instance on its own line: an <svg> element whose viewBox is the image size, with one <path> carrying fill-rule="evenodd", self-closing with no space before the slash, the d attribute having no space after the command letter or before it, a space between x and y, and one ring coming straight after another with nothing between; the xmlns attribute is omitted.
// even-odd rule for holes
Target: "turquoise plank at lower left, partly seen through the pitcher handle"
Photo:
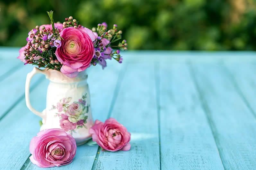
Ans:
<svg viewBox="0 0 256 170"><path fill-rule="evenodd" d="M19 84L16 84L19 85ZM32 105L42 110L46 104L46 95L39 93L46 91L48 81L44 80L31 93ZM1 168L20 169L29 157L29 143L39 131L40 118L32 114L26 107L24 98L0 121L0 154Z"/></svg>

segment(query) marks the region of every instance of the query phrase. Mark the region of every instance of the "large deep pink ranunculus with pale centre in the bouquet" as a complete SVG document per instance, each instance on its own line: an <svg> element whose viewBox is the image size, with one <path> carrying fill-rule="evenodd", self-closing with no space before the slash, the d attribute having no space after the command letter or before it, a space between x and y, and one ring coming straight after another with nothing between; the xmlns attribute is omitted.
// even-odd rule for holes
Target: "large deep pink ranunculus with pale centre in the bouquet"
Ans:
<svg viewBox="0 0 256 170"><path fill-rule="evenodd" d="M90 67L94 56L95 36L88 28L68 27L60 32L61 46L55 52L57 60L63 63L60 71L68 77Z"/></svg>

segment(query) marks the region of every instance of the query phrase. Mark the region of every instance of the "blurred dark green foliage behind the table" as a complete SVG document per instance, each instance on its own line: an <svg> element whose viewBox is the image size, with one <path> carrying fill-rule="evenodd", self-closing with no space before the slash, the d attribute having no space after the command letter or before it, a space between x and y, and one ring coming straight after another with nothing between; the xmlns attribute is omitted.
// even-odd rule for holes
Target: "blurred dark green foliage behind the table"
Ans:
<svg viewBox="0 0 256 170"><path fill-rule="evenodd" d="M117 24L128 49L256 50L255 0L2 0L0 8L1 46L24 46L53 10L55 21Z"/></svg>

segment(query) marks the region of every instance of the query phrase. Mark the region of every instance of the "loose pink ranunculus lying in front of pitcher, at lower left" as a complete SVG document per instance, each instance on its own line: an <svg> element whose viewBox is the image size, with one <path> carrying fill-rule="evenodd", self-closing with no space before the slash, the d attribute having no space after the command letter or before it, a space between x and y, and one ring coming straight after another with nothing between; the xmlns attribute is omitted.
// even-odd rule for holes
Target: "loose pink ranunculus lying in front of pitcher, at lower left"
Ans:
<svg viewBox="0 0 256 170"><path fill-rule="evenodd" d="M46 129L33 137L29 151L33 164L46 168L70 164L75 157L75 139L62 129Z"/></svg>

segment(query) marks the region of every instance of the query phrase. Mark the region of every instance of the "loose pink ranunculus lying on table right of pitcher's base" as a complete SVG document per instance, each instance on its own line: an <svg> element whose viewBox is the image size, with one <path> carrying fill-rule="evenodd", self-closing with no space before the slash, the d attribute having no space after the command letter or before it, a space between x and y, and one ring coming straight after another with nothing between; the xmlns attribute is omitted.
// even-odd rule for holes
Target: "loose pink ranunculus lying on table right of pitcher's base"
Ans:
<svg viewBox="0 0 256 170"><path fill-rule="evenodd" d="M127 151L131 148L129 143L131 134L114 118L107 119L105 123L96 120L89 133L92 134L93 141L97 142L104 150Z"/></svg>

